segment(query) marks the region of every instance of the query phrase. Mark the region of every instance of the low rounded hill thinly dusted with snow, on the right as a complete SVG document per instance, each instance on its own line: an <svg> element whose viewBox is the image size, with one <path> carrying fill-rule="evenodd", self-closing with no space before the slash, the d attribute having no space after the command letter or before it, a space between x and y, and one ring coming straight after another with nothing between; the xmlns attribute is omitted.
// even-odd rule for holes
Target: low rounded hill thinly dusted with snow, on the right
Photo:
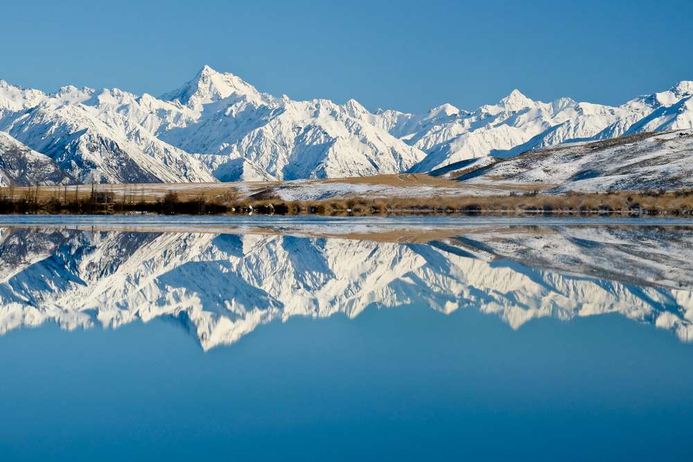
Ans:
<svg viewBox="0 0 693 462"><path fill-rule="evenodd" d="M543 148L495 159L459 179L474 186L548 187L548 193L693 188L693 130Z"/></svg>

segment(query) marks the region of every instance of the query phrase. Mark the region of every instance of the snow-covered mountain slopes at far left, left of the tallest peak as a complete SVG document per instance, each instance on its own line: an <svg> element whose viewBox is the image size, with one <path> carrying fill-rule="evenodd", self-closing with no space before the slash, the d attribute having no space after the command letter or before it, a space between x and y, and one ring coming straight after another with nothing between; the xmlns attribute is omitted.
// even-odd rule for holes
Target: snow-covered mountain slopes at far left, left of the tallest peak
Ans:
<svg viewBox="0 0 693 462"><path fill-rule="evenodd" d="M114 100L134 98L129 94L63 87L26 107L27 94L31 91L17 87L6 92L0 107L9 109L0 117L0 130L50 157L78 181L215 181L190 154L113 110Z"/></svg>

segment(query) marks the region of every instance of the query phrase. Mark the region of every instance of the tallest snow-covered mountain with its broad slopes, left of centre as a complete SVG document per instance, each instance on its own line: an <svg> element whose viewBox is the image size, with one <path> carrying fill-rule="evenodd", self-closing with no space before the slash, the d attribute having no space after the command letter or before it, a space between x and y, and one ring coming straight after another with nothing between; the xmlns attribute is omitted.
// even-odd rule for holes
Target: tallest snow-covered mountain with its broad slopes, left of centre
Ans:
<svg viewBox="0 0 693 462"><path fill-rule="evenodd" d="M186 116L167 116L157 136L203 154L222 181L395 173L425 155L362 121L356 113L366 110L356 101L274 98L209 66L162 98Z"/></svg>

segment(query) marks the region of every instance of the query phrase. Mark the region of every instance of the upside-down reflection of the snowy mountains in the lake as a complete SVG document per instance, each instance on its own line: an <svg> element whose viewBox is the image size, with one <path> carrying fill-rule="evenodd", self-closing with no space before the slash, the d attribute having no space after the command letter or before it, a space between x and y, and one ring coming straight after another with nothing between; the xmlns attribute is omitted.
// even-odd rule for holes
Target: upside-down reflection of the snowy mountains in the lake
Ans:
<svg viewBox="0 0 693 462"><path fill-rule="evenodd" d="M615 312L693 340L689 227L480 225L415 239L316 229L1 228L0 333L168 317L207 350L275 319L418 304L515 329Z"/></svg>

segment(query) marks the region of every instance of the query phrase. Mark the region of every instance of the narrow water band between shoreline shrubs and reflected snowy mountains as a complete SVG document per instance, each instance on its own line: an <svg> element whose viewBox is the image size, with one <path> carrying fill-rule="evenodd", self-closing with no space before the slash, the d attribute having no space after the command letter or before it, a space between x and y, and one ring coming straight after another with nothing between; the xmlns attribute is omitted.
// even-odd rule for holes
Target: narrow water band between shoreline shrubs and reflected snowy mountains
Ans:
<svg viewBox="0 0 693 462"><path fill-rule="evenodd" d="M340 238L376 242L423 243L454 239L465 233L508 232L533 229L552 233L563 228L686 229L693 218L606 216L390 216L326 217L317 215L0 215L0 229L9 234L21 229L54 231L203 233L234 235L286 235L305 238ZM504 230L505 231L501 231Z"/></svg>

